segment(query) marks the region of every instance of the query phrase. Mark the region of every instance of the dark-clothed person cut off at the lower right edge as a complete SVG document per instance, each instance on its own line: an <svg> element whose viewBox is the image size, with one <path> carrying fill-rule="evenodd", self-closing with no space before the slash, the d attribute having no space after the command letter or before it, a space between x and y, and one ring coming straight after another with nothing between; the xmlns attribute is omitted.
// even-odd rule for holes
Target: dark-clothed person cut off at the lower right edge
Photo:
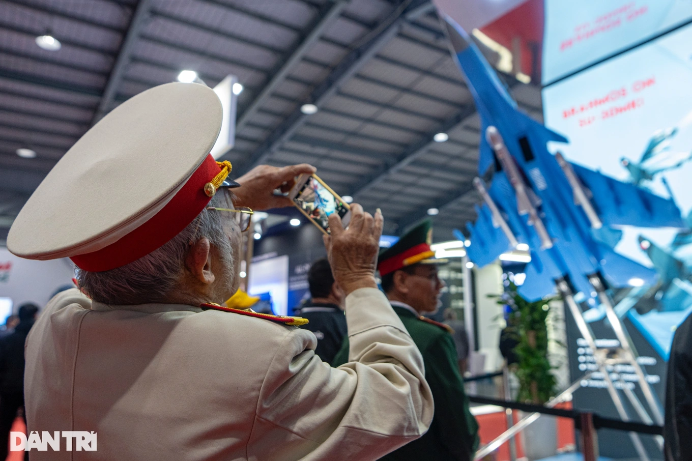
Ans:
<svg viewBox="0 0 692 461"><path fill-rule="evenodd" d="M692 315L675 330L666 380L666 461L692 460Z"/></svg>

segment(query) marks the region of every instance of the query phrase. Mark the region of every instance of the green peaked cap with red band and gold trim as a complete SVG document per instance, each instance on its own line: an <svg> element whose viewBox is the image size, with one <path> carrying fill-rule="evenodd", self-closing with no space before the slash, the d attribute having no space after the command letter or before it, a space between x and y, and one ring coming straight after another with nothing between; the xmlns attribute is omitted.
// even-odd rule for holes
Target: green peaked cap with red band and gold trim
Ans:
<svg viewBox="0 0 692 461"><path fill-rule="evenodd" d="M435 252L430 250L431 243L432 221L426 219L402 235L397 243L380 251L377 262L380 275L387 275L434 256Z"/></svg>

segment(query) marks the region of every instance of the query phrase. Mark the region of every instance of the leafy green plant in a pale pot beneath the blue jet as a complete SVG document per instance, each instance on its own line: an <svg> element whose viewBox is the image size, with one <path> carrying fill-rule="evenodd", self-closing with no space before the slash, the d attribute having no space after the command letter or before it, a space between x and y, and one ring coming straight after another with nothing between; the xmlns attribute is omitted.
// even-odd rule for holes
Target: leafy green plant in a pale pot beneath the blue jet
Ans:
<svg viewBox="0 0 692 461"><path fill-rule="evenodd" d="M511 281L505 287L504 293L489 297L497 298L498 304L510 308L504 334L509 334L516 343L513 347L516 363L511 365L511 371L519 381L517 400L537 405L545 404L554 397L557 386L556 377L552 372L557 367L549 360L548 345L552 340L548 337L547 328L549 302L557 297L529 302L520 296L516 284ZM521 439L529 460L554 455L557 450L557 426L554 417L540 417L523 431ZM528 446L527 440L530 441Z"/></svg>

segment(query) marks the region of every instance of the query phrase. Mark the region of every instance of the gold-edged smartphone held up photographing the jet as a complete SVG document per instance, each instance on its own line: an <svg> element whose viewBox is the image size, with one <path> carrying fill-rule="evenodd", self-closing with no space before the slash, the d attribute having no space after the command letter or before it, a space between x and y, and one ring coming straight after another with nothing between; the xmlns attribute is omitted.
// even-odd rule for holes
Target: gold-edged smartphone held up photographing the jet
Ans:
<svg viewBox="0 0 692 461"><path fill-rule="evenodd" d="M329 216L336 213L344 228L351 220L351 207L316 174L301 174L289 192L289 199L323 233L329 235Z"/></svg>

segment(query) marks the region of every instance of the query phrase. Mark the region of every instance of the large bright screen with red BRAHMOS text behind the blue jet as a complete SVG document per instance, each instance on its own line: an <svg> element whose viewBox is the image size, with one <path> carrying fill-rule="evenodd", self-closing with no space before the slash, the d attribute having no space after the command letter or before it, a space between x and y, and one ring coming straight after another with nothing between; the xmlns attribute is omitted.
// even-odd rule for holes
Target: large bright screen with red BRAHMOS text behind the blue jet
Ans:
<svg viewBox="0 0 692 461"><path fill-rule="evenodd" d="M551 150L660 195L672 194L689 222L691 81L692 26L686 26L547 87L545 123L570 139ZM621 230L615 251L654 267L659 282L633 287L616 310L627 314L667 361L675 327L692 311L692 235L675 228ZM587 318L602 315L596 310Z"/></svg>

